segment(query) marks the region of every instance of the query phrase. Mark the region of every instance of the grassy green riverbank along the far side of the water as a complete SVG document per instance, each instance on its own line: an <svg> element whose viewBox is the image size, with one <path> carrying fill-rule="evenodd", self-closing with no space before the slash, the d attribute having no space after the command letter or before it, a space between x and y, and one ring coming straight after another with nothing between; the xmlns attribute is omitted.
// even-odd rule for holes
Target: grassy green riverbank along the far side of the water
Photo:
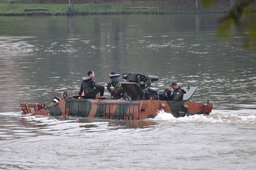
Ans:
<svg viewBox="0 0 256 170"><path fill-rule="evenodd" d="M26 12L26 8L48 10ZM65 15L70 14L68 9L68 0L0 0L2 16ZM200 9L196 9L196 0L74 0L72 14L224 13L229 9L230 0L217 0L214 5Z"/></svg>

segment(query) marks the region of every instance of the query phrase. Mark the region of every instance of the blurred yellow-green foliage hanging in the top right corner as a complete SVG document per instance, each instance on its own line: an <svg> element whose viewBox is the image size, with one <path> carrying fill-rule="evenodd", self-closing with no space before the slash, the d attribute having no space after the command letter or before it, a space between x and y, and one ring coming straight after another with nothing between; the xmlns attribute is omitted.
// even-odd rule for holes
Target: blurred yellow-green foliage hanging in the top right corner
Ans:
<svg viewBox="0 0 256 170"><path fill-rule="evenodd" d="M256 50L256 0L236 0L234 7L223 18L217 35L225 37L244 37L244 47ZM204 5L211 5L215 0L201 0ZM239 34L239 35L238 35Z"/></svg>

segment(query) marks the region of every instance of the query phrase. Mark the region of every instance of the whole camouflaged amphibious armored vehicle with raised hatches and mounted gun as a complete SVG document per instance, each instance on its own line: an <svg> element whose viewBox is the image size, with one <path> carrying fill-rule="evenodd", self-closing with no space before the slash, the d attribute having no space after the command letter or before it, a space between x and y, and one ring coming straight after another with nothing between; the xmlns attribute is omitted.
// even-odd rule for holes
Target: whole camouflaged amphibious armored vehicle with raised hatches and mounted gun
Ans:
<svg viewBox="0 0 256 170"><path fill-rule="evenodd" d="M189 116L193 114L207 115L212 111L212 104L190 102L190 98L197 86L182 86L186 94L182 102L161 101L150 98L144 100L142 89L145 82L157 81L157 76L145 76L144 74L123 74L127 79L122 87L128 98L113 100L111 98L96 96L96 99L86 99L84 96L68 98L67 92L62 92L61 99L53 98L54 103L45 104L20 104L22 111L32 115L48 116L78 116L98 117L105 119L139 120L154 118L159 110L164 110L175 117Z"/></svg>

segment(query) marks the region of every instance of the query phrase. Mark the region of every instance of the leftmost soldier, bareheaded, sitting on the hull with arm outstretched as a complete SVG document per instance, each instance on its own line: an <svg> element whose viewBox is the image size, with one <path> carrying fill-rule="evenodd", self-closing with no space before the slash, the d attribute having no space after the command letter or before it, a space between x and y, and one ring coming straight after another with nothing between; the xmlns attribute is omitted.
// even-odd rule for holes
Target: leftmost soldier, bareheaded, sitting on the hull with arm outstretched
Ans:
<svg viewBox="0 0 256 170"><path fill-rule="evenodd" d="M88 71L87 77L82 78L82 83L79 91L79 96L82 95L82 92L84 92L84 96L86 98L96 98L96 94L100 92L100 96L104 95L104 89L108 85L107 83L102 85L96 84L94 80L94 72L93 71Z"/></svg>

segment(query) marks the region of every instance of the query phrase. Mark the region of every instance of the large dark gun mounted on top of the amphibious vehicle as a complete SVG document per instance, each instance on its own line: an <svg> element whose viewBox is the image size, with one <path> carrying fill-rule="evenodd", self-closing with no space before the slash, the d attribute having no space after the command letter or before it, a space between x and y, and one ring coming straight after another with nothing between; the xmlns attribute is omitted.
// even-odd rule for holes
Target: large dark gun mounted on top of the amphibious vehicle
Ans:
<svg viewBox="0 0 256 170"><path fill-rule="evenodd" d="M130 73L123 74L123 79L127 79L128 82L134 82L140 85L140 88L143 90L145 88L146 81L155 82L158 81L158 76L146 76L145 74L139 73Z"/></svg>

